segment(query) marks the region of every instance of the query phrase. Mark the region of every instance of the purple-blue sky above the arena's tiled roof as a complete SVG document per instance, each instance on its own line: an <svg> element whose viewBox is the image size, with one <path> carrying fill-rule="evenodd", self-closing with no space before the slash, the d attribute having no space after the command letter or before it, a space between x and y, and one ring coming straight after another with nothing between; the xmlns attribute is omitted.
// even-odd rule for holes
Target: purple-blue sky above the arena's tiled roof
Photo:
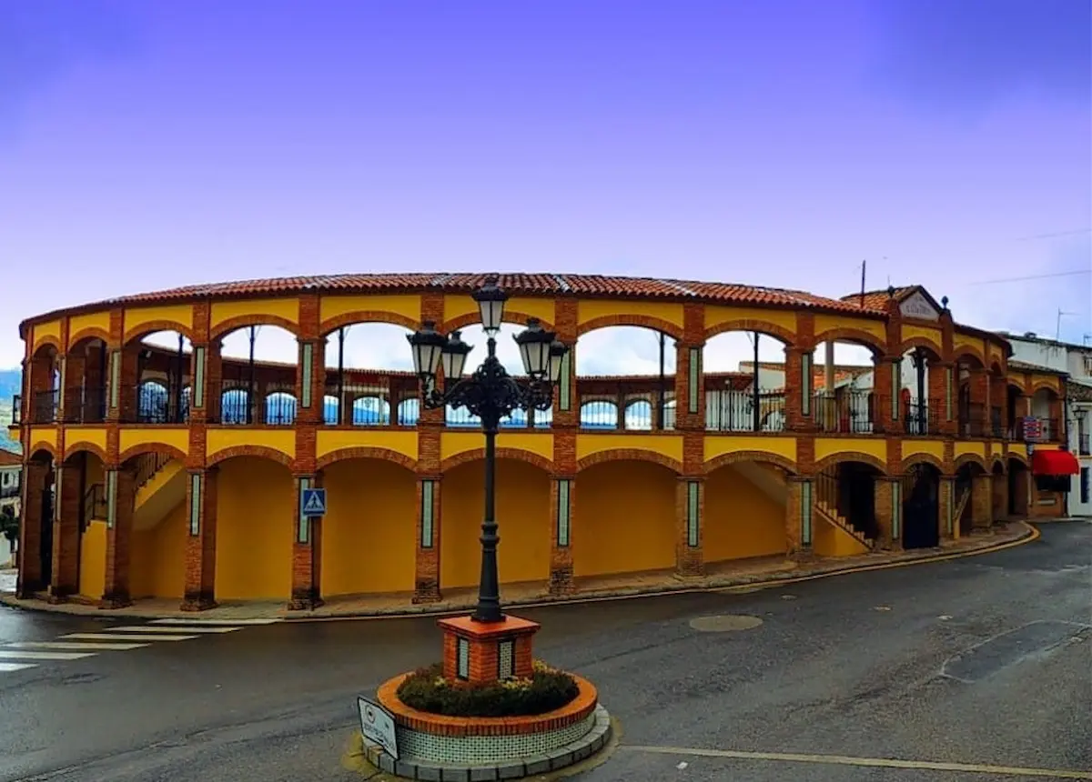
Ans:
<svg viewBox="0 0 1092 782"><path fill-rule="evenodd" d="M1090 9L11 0L0 365L23 317L200 281L521 269L841 296L863 258L869 287L924 284L962 322L1053 335L1078 313L1080 341Z"/></svg>

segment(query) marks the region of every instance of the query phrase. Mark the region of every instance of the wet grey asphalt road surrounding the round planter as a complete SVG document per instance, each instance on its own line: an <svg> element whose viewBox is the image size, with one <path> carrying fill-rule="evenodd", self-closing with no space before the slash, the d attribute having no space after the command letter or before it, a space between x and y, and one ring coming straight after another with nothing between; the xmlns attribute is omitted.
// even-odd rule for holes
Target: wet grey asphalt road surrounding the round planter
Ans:
<svg viewBox="0 0 1092 782"><path fill-rule="evenodd" d="M544 625L538 655L595 682L622 727L586 782L1092 779L1092 524L1042 532L750 593L520 613ZM761 624L691 626L720 615ZM354 696L439 652L432 621L393 619L3 657L134 624L0 610L0 782L359 780L341 767Z"/></svg>

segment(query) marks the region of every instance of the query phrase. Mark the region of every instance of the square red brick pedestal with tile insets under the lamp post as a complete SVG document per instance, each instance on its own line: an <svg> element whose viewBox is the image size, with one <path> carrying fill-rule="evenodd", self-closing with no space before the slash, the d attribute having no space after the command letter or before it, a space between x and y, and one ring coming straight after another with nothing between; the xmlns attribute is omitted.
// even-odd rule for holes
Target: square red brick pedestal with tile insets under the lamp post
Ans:
<svg viewBox="0 0 1092 782"><path fill-rule="evenodd" d="M529 677L532 638L541 625L517 616L475 622L470 616L439 619L443 630L443 677L474 684Z"/></svg>

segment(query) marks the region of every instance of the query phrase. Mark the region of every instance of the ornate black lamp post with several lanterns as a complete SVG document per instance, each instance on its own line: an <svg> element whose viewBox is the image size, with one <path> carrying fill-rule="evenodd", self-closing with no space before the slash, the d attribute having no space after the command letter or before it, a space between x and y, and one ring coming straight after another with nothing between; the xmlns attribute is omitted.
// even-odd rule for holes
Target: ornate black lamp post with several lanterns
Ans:
<svg viewBox="0 0 1092 782"><path fill-rule="evenodd" d="M561 374L562 359L568 347L557 341L553 332L544 330L537 318L529 318L527 327L514 337L520 346L526 380L517 380L505 371L497 359L497 333L505 315L508 294L497 287L496 277L474 292L482 325L488 341L488 354L474 374L463 377L463 365L472 346L460 338L459 332L444 336L436 323L426 321L416 334L406 337L413 348L414 371L422 385L422 404L426 408L464 407L482 419L485 432L485 519L482 521L482 576L478 580L475 622L501 622L500 585L497 576L496 471L497 430L501 419L514 410L549 410L554 401L554 384ZM443 389L437 387L436 373L442 363Z"/></svg>

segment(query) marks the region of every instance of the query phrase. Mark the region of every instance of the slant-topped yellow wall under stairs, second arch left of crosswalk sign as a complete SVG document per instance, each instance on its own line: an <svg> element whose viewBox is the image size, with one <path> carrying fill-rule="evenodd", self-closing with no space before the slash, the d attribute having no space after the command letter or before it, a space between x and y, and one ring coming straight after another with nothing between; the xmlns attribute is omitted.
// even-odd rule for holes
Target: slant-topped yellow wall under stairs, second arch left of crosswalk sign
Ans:
<svg viewBox="0 0 1092 782"><path fill-rule="evenodd" d="M129 565L129 589L133 598L182 598L188 534L185 502L175 505L154 527L133 530ZM218 590L218 582L216 587Z"/></svg>

